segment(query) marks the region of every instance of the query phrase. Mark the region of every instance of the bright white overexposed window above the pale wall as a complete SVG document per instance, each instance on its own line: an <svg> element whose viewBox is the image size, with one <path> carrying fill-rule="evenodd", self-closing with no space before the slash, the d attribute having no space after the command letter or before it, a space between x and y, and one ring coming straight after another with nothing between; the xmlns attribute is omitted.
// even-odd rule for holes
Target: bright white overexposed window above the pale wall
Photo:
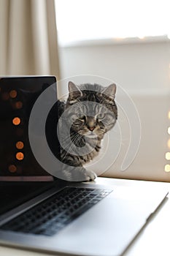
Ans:
<svg viewBox="0 0 170 256"><path fill-rule="evenodd" d="M169 0L55 0L61 45L93 39L169 37Z"/></svg>

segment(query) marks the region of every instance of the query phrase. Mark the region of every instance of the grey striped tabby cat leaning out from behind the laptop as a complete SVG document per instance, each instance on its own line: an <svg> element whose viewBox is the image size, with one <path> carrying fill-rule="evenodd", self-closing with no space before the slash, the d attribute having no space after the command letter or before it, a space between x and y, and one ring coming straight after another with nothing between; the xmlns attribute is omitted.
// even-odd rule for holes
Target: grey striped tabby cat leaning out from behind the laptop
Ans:
<svg viewBox="0 0 170 256"><path fill-rule="evenodd" d="M93 181L96 173L83 165L96 157L104 134L115 126L116 85L107 87L69 81L69 97L61 102L58 135L61 143L63 178L72 181ZM75 168L78 167L78 168Z"/></svg>

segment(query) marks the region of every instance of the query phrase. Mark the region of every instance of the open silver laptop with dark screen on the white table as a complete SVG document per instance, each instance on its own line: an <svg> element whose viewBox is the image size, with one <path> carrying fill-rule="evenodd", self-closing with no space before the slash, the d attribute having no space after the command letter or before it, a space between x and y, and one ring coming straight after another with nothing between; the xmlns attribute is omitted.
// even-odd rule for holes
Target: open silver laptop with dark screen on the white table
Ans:
<svg viewBox="0 0 170 256"><path fill-rule="evenodd" d="M53 176L34 157L31 140L38 135L29 127L37 100L50 88L57 88L53 76L0 79L0 244L66 255L123 255L168 191ZM53 95L57 102L56 90ZM47 102L45 138L60 162L57 105Z"/></svg>

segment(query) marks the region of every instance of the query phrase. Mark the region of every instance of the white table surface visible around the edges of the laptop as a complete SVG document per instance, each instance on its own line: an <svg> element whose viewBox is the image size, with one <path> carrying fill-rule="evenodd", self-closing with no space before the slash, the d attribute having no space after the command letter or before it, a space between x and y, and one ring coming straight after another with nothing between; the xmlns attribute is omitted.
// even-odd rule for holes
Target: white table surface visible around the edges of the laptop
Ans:
<svg viewBox="0 0 170 256"><path fill-rule="evenodd" d="M125 186L125 187L142 187L155 188L165 187L170 191L170 184L155 181L134 181L116 178L96 178L96 184ZM0 255L2 256L49 256L50 254L42 252L31 252L23 249L9 248L0 246ZM140 255L170 255L170 200L166 200L161 208L158 209L155 216L139 233L134 242L129 246L124 256L140 256ZM60 255L56 255L60 256Z"/></svg>

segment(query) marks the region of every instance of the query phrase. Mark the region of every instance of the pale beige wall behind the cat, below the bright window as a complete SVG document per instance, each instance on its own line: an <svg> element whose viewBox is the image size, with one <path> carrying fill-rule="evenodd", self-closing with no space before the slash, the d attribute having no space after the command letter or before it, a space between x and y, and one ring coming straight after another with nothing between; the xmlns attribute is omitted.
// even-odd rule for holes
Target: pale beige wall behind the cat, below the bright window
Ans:
<svg viewBox="0 0 170 256"><path fill-rule="evenodd" d="M135 102L139 113L141 142L134 162L124 172L120 171L131 141L131 128L125 113L119 109L119 124L123 130L120 153L112 165L104 169L108 169L104 176L170 181L170 173L164 172L164 165L169 163L165 159L165 153L169 150L167 127L170 125L169 49L169 42L74 45L60 48L61 78L73 77L69 80L74 81L74 76L86 74L113 80L118 86L117 103L121 98L120 88L124 89ZM66 83L62 84L59 92L67 92ZM110 135L111 140L115 136L113 133ZM114 140L112 143L114 144ZM111 150L114 151L114 145ZM107 163L108 156L110 159L112 152L103 157L104 163ZM97 170L101 165L90 165L90 168Z"/></svg>

